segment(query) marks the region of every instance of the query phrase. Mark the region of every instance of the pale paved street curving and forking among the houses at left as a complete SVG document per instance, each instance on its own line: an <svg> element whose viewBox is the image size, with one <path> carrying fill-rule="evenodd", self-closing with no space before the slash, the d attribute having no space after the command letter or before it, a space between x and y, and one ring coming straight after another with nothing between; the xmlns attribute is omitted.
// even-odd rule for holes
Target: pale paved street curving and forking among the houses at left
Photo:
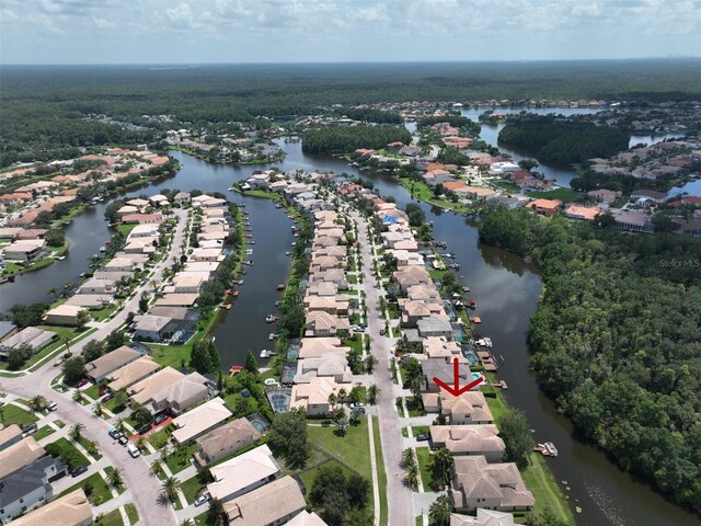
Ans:
<svg viewBox="0 0 701 526"><path fill-rule="evenodd" d="M124 305L123 309L114 318L104 322L92 323L92 327L96 327L97 331L71 345L71 353L79 354L85 343L91 340L103 341L113 330L124 324L129 312L138 312L141 293L152 288L151 282L160 283L163 271L172 265L180 255L180 245L183 241L186 226L186 211L177 209L175 210L175 216L180 220L169 256L156 265L152 274L134 291L131 299ZM50 381L60 374L60 369L53 367L55 361L56 357L49 359L36 371L31 373L30 376L0 378L0 389L24 399L42 395L47 400L54 400L58 404L56 414L60 420L66 422L67 425L72 425L77 422L82 423L85 426L83 434L88 439L97 444L108 465L123 470L124 482L134 498L134 504L137 507L140 521L147 526L177 524L172 507L164 507L158 504L160 484L154 483L152 480L148 461L143 457L131 458L125 447L119 446L107 435L110 424L95 416L90 407L73 402L70 392L59 393L49 387Z"/></svg>

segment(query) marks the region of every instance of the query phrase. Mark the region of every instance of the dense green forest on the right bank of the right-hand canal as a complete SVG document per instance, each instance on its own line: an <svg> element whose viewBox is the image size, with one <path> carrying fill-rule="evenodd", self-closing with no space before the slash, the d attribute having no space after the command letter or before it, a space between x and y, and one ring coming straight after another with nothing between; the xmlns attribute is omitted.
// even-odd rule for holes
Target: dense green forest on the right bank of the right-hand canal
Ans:
<svg viewBox="0 0 701 526"><path fill-rule="evenodd" d="M531 259L531 364L576 430L701 513L701 240L495 207L483 242Z"/></svg>

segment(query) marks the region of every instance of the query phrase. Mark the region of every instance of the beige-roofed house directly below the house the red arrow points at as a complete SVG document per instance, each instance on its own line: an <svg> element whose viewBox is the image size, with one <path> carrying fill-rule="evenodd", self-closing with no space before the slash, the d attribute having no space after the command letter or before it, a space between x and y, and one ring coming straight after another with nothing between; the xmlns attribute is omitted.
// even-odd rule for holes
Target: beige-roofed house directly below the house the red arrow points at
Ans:
<svg viewBox="0 0 701 526"><path fill-rule="evenodd" d="M434 448L447 448L452 456L483 455L487 462L498 462L506 446L496 425L432 425Z"/></svg>

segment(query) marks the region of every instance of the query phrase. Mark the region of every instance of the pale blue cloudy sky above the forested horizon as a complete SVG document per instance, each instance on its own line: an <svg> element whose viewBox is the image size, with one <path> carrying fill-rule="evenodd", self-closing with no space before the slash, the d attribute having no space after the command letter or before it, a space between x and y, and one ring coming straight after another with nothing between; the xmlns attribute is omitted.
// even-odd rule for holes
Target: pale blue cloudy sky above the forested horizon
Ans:
<svg viewBox="0 0 701 526"><path fill-rule="evenodd" d="M701 0L2 0L2 64L699 56Z"/></svg>

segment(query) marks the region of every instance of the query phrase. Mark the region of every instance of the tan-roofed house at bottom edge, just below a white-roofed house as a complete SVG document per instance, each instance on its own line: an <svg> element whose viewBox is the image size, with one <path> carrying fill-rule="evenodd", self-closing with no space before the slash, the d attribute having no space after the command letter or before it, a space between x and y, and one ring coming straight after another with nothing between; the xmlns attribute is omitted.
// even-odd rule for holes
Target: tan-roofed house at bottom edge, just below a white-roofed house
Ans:
<svg viewBox="0 0 701 526"><path fill-rule="evenodd" d="M230 526L285 524L307 507L299 484L289 476L225 503Z"/></svg>

